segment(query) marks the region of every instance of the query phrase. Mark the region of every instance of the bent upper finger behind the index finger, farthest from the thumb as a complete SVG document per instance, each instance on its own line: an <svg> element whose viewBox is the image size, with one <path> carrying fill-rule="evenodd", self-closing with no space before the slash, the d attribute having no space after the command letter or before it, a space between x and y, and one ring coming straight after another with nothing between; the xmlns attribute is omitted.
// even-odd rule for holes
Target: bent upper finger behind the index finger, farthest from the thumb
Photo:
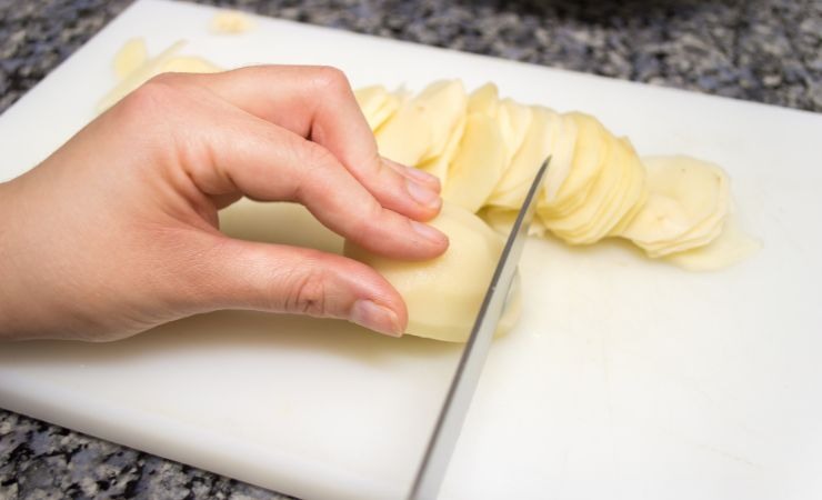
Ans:
<svg viewBox="0 0 822 500"><path fill-rule="evenodd" d="M383 207L417 220L439 212L439 183L431 176L381 161L341 71L264 66L192 79L233 106L323 146Z"/></svg>

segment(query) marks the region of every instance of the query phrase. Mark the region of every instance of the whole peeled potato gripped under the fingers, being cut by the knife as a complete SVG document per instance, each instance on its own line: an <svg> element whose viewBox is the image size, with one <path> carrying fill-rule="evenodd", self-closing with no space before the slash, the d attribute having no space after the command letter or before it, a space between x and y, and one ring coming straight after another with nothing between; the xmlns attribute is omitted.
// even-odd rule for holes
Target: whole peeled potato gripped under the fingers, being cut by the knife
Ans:
<svg viewBox="0 0 822 500"><path fill-rule="evenodd" d="M473 213L449 203L431 226L448 234L451 244L428 261L400 261L345 243L348 257L364 262L400 292L409 311L407 333L464 342L491 282L504 239ZM497 333L508 332L519 316L518 281L509 294L508 310Z"/></svg>

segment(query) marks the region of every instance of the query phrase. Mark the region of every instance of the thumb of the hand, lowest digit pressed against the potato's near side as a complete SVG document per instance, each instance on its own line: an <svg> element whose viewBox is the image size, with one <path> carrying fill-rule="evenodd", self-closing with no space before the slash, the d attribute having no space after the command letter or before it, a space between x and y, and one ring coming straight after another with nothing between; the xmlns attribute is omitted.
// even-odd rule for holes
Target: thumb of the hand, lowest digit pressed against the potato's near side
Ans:
<svg viewBox="0 0 822 500"><path fill-rule="evenodd" d="M361 262L305 248L212 238L198 259L199 307L340 318L392 337L405 329L402 297Z"/></svg>

